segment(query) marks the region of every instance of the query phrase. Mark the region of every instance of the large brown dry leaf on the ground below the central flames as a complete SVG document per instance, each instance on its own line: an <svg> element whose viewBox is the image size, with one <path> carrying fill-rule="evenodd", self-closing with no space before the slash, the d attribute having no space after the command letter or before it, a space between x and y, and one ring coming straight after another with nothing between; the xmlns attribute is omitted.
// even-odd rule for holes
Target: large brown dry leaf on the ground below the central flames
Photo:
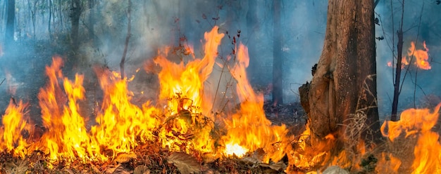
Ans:
<svg viewBox="0 0 441 174"><path fill-rule="evenodd" d="M170 154L167 160L168 163L173 163L182 174L199 173L201 171L201 164L189 154L175 152Z"/></svg>

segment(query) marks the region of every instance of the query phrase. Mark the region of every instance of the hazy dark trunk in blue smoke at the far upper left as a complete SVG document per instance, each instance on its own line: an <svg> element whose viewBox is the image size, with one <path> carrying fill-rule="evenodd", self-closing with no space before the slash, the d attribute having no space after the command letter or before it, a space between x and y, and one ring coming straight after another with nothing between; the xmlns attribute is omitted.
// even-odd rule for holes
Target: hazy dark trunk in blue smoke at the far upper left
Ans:
<svg viewBox="0 0 441 174"><path fill-rule="evenodd" d="M7 8L8 12L6 17L5 48L10 47L14 41L15 0L8 0Z"/></svg>

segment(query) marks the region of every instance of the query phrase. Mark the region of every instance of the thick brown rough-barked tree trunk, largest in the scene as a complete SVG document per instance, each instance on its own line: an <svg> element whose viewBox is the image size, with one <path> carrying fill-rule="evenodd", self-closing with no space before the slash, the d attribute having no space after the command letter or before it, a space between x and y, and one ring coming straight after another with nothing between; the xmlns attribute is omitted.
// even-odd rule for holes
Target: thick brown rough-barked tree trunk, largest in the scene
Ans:
<svg viewBox="0 0 441 174"><path fill-rule="evenodd" d="M373 0L329 0L323 52L306 111L313 139L332 133L343 140L348 125L360 120L364 126L359 138L380 138L373 8Z"/></svg>

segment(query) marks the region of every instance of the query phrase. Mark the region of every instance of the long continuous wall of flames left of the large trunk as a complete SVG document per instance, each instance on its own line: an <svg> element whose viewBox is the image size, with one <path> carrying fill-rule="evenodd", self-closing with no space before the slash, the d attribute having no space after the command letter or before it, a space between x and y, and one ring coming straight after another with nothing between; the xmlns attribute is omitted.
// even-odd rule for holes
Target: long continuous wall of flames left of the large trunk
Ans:
<svg viewBox="0 0 441 174"><path fill-rule="evenodd" d="M182 55L191 56L187 62L168 60L170 48L159 51L154 63L161 67L158 73L161 91L159 101L135 105L128 86L132 78L121 79L120 74L108 69L95 68L103 100L97 102L94 123L87 128L89 116L82 115L79 103L85 102L85 76L75 74L70 80L63 76L63 60L54 56L46 66L47 82L40 88L37 98L41 108L44 133L35 142L23 136L30 133L25 121L26 105L12 102L2 117L0 147L15 156L26 156L41 150L51 161L106 161L120 153L130 153L140 144L150 141L170 151L210 153L216 156L242 156L263 149L265 156L278 161L290 148L285 125L275 126L263 112L263 95L254 93L248 82L249 65L247 47L235 48L234 65L227 65L236 80L240 109L225 111L226 130L212 138L215 119L212 115L213 94L204 83L211 76L218 58L218 46L224 34L213 27L204 34L204 57L195 58L192 46L183 47ZM222 129L222 128L221 128ZM216 144L216 146L215 146Z"/></svg>

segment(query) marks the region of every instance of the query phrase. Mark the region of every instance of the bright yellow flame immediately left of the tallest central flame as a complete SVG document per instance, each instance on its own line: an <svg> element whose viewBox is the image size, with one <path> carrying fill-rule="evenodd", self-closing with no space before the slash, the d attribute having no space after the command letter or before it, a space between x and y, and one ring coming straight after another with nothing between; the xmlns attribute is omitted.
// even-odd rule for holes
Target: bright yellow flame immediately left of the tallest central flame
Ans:
<svg viewBox="0 0 441 174"><path fill-rule="evenodd" d="M158 126L153 116L156 112L149 102L137 107L130 102L133 93L128 91L127 79L120 79L116 72L96 69L103 89L104 99L101 111L92 126L91 134L97 147L109 149L113 156L122 152L132 152L141 142L152 140L152 130ZM101 72L100 72L101 71Z"/></svg>

